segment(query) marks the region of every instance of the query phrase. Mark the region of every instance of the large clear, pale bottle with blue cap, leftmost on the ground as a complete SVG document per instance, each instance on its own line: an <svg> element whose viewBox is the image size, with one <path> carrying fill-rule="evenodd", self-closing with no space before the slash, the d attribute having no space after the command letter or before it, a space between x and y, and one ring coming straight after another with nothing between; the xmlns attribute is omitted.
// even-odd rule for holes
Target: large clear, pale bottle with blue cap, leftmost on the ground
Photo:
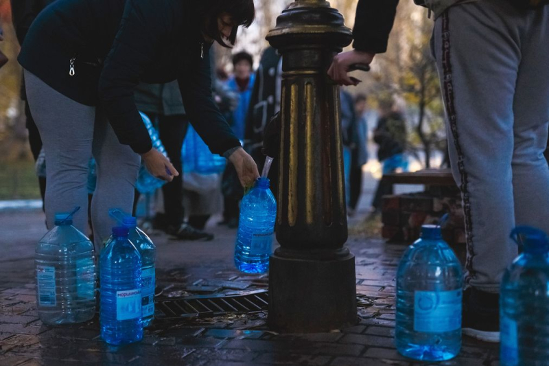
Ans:
<svg viewBox="0 0 549 366"><path fill-rule="evenodd" d="M56 214L56 226L36 247L36 303L45 324L80 323L95 314L93 244L72 223L71 214Z"/></svg>

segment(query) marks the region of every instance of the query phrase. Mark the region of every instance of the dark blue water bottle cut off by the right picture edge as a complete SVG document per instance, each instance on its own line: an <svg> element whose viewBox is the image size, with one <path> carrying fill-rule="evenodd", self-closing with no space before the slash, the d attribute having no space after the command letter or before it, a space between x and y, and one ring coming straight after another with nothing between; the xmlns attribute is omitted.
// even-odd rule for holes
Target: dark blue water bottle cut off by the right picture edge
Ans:
<svg viewBox="0 0 549 366"><path fill-rule="evenodd" d="M548 365L549 238L524 226L515 228L511 237L522 242L523 252L502 279L500 365Z"/></svg>

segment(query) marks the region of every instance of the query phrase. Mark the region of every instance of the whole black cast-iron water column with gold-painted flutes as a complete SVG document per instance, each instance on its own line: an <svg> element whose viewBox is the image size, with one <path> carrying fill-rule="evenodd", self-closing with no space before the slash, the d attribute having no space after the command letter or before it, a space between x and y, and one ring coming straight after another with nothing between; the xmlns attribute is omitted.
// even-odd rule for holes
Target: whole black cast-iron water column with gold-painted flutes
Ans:
<svg viewBox="0 0 549 366"><path fill-rule="evenodd" d="M327 76L351 43L327 1L294 1L267 36L283 56L277 240L270 258L270 328L327 332L357 321L347 241L339 87Z"/></svg>

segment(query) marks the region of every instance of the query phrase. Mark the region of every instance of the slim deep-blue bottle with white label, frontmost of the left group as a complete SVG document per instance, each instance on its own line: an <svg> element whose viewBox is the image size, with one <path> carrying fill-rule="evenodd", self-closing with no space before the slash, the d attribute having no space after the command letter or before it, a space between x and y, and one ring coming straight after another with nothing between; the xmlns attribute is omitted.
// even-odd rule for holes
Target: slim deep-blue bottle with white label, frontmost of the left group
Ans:
<svg viewBox="0 0 549 366"><path fill-rule="evenodd" d="M114 227L100 258L101 337L113 345L141 341L141 255L127 227Z"/></svg>

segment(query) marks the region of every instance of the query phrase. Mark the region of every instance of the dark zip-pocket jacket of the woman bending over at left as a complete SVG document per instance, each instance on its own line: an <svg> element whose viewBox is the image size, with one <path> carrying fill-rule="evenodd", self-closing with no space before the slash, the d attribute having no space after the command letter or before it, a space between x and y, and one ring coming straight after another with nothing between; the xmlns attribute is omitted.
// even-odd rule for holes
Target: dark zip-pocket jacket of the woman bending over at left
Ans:
<svg viewBox="0 0 549 366"><path fill-rule="evenodd" d="M136 85L178 80L194 128L222 154L240 142L213 102L198 1L57 0L30 27L19 62L76 102L102 106L120 143L138 153L152 144L135 106Z"/></svg>

